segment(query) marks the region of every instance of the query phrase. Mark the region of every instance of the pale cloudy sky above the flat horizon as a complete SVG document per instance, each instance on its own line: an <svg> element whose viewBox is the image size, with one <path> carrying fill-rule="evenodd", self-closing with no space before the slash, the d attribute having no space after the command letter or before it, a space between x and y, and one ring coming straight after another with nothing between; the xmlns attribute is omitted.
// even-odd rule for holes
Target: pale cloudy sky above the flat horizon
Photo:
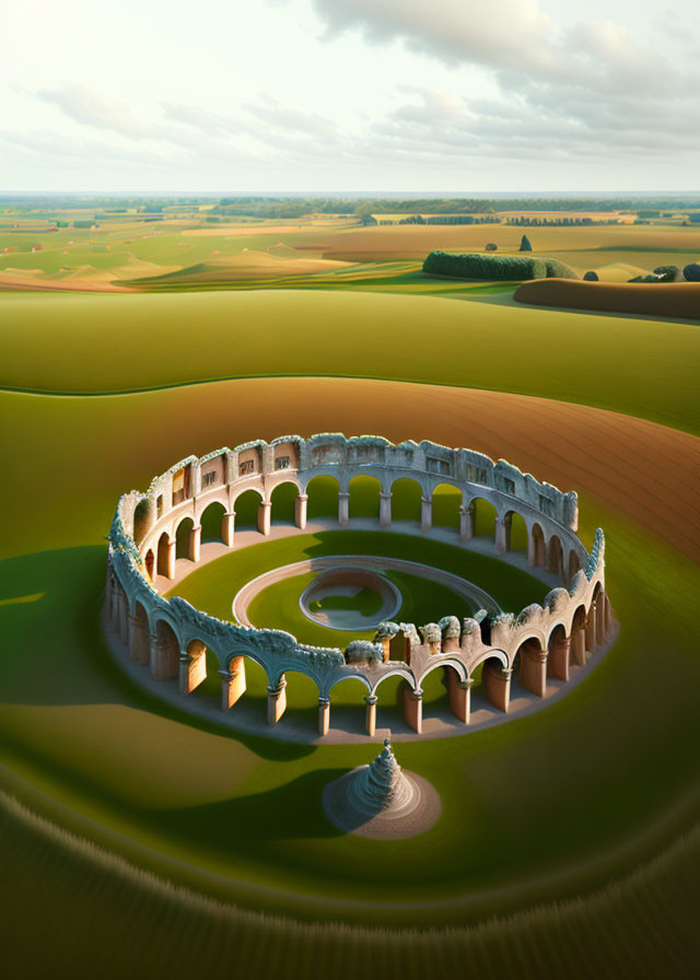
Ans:
<svg viewBox="0 0 700 980"><path fill-rule="evenodd" d="M700 3L2 3L0 190L700 188Z"/></svg>

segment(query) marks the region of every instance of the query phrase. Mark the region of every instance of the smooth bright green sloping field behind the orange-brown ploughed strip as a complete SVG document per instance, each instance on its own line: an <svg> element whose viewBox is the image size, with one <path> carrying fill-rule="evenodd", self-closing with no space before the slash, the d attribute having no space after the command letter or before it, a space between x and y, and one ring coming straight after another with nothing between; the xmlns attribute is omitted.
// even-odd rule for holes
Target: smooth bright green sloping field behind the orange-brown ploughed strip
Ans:
<svg viewBox="0 0 700 980"><path fill-rule="evenodd" d="M330 375L489 388L700 432L692 324L323 291L0 294L0 386Z"/></svg>

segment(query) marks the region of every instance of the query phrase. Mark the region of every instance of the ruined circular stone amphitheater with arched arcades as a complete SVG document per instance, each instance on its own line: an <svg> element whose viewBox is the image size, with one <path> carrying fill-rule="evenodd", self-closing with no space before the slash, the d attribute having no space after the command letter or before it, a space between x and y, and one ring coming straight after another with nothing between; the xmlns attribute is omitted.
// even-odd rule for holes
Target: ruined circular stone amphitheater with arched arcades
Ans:
<svg viewBox="0 0 700 980"><path fill-rule="evenodd" d="M442 575L455 591L469 594L479 611L460 621L448 609L436 610L445 615L423 626L386 618L375 625L373 641L350 642L345 651L310 646L289 632L249 625L247 603L265 582L249 583L235 597L237 622L223 621L180 597L162 594L175 579L176 536L183 522L191 525L186 561L195 569L203 560L201 518L207 509L215 505L222 513L221 547L235 549L235 509L241 495L252 490L259 498L256 536L262 540L272 530L272 494L280 486L291 483L295 500L290 533L305 532L310 483L319 476L337 481L337 518L326 522L336 529L353 524L349 511L353 478L376 479L381 485L378 514L369 526L377 533L393 525L392 490L396 481L416 481L421 495L420 522L413 530L417 565L421 538L433 533L433 494L439 486L447 485L460 493L454 542L465 549L474 544L479 501L489 502L495 510L493 540L489 544L494 557L508 557L511 525L517 514L527 529L527 567L533 574L546 574L550 583L560 584L550 590L542 605L530 604L518 612L509 612L477 583L424 569L432 578ZM183 699L206 678L206 653L213 652L223 712L230 712L244 696L246 660L255 662L267 677L264 723L269 725L276 725L285 710L285 672L298 672L311 678L318 690L316 737L328 734L332 690L347 678L359 679L366 689L360 708L364 731L373 736L377 689L388 677L400 677L405 681L405 723L420 735L421 685L436 668L443 670L452 716L459 725L468 725L477 668L486 699L494 712L504 715L511 707L514 670L521 688L545 698L548 684L565 684L572 672L584 667L592 654L610 642L616 627L605 590L604 535L598 528L588 553L576 535L578 517L574 492L562 493L504 460L494 463L469 450L432 442L394 445L380 436L346 439L336 433L308 439L288 435L270 443L259 440L200 458L190 456L155 477L147 493L131 491L121 497L109 533L106 625L117 643L118 656L130 662L130 667L140 665L150 681L175 682ZM390 564L389 559L372 561L363 556L336 556L307 563L314 570L331 571L336 587L345 574L346 584L366 581L372 588L375 583L363 576L381 579L382 570ZM268 578L289 573L289 569L278 569ZM376 587L381 593L381 586ZM397 608L389 591L378 600L382 610L393 614ZM353 628L347 620L343 625Z"/></svg>

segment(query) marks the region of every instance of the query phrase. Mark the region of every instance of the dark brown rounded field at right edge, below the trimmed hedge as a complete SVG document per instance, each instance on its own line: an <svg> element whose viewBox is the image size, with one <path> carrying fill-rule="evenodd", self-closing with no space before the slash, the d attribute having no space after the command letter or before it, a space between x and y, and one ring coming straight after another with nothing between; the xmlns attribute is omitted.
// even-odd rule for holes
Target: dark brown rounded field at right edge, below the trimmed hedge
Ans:
<svg viewBox="0 0 700 980"><path fill-rule="evenodd" d="M700 323L700 282L583 282L575 279L537 279L515 291L518 303L593 310L599 313L638 313Z"/></svg>

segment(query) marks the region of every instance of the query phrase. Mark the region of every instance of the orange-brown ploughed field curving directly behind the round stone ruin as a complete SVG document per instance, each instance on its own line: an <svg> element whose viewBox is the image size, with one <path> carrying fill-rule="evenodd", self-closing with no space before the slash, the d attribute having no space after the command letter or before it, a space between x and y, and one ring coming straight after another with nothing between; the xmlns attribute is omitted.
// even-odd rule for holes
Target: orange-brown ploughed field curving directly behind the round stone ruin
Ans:
<svg viewBox="0 0 700 980"><path fill-rule="evenodd" d="M173 441L173 459L234 440L318 431L479 450L596 498L700 560L700 440L642 419L522 395L354 378L250 378L121 397L153 399L154 410L159 399L177 417L176 431L151 433L159 455Z"/></svg>

